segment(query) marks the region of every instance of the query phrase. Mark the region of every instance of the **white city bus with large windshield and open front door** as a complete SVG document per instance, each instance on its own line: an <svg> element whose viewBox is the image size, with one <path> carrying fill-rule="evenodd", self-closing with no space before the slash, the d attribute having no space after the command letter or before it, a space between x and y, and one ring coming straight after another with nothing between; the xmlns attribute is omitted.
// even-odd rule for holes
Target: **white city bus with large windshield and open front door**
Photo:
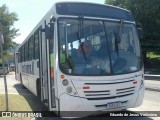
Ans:
<svg viewBox="0 0 160 120"><path fill-rule="evenodd" d="M16 79L60 116L138 107L144 73L136 23L119 7L57 2L17 48Z"/></svg>

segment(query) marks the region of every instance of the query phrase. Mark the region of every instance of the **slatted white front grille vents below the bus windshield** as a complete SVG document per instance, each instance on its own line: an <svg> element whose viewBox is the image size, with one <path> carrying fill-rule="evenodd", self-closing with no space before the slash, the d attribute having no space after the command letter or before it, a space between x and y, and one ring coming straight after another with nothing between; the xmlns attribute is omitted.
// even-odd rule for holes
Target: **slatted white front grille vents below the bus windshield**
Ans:
<svg viewBox="0 0 160 120"><path fill-rule="evenodd" d="M132 84L133 81L135 80L118 81L112 83L87 82L85 85L90 86L90 89L83 91L84 96L88 100L105 100L130 96L134 94L136 88L135 85Z"/></svg>

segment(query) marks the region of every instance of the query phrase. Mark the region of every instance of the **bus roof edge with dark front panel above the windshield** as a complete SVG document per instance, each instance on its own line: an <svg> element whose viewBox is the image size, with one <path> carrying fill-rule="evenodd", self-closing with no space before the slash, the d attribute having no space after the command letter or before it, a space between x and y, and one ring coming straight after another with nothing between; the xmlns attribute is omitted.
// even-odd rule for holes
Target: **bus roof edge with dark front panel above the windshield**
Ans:
<svg viewBox="0 0 160 120"><path fill-rule="evenodd" d="M111 19L124 19L134 22L131 12L120 7L91 2L56 2L46 13L46 15L40 20L40 22L35 26L35 28L30 32L30 34L25 38L22 44L18 46L17 50L34 34L34 32L40 27L40 25L44 23L45 20L47 20L47 18L50 18L51 15L55 14L55 10L59 15L84 15Z"/></svg>

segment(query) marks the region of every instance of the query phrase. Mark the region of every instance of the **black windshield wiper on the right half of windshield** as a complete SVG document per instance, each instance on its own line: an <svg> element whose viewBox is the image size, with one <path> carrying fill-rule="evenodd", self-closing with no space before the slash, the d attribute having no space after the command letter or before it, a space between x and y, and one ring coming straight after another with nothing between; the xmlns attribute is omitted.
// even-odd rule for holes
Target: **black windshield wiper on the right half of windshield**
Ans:
<svg viewBox="0 0 160 120"><path fill-rule="evenodd" d="M115 49L116 49L117 55L119 55L119 46L118 46L118 44L121 43L123 24L124 24L124 21L120 20L118 34L114 31L114 34L115 34L115 37L116 37L115 38Z"/></svg>

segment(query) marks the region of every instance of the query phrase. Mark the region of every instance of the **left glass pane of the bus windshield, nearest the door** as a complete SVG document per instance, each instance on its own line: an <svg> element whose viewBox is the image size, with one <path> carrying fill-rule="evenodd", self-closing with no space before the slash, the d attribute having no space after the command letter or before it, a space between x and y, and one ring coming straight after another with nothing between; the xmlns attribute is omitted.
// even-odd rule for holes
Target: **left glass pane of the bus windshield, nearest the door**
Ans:
<svg viewBox="0 0 160 120"><path fill-rule="evenodd" d="M100 36L105 34L102 21L83 20L82 30L79 29L79 20L61 19L59 24L60 51L63 50L66 56L66 63L62 63L63 59L60 55L60 66L62 66L62 71L68 74L88 75L110 72L110 66L104 68L102 64L97 65L97 69L86 68L86 66L95 66L95 64L99 63L98 60L101 59L100 55L103 54L99 53L99 48L101 46ZM80 32L81 35L79 35ZM92 46L91 55L88 55L88 50L83 48L83 43L86 43L87 41L88 43L91 43ZM79 52L80 49L82 49L82 55ZM108 52L107 44L105 44L104 51L106 51L106 53ZM106 63L109 65L108 54L103 54L103 57L105 61L108 61ZM100 71L104 72L100 73Z"/></svg>

